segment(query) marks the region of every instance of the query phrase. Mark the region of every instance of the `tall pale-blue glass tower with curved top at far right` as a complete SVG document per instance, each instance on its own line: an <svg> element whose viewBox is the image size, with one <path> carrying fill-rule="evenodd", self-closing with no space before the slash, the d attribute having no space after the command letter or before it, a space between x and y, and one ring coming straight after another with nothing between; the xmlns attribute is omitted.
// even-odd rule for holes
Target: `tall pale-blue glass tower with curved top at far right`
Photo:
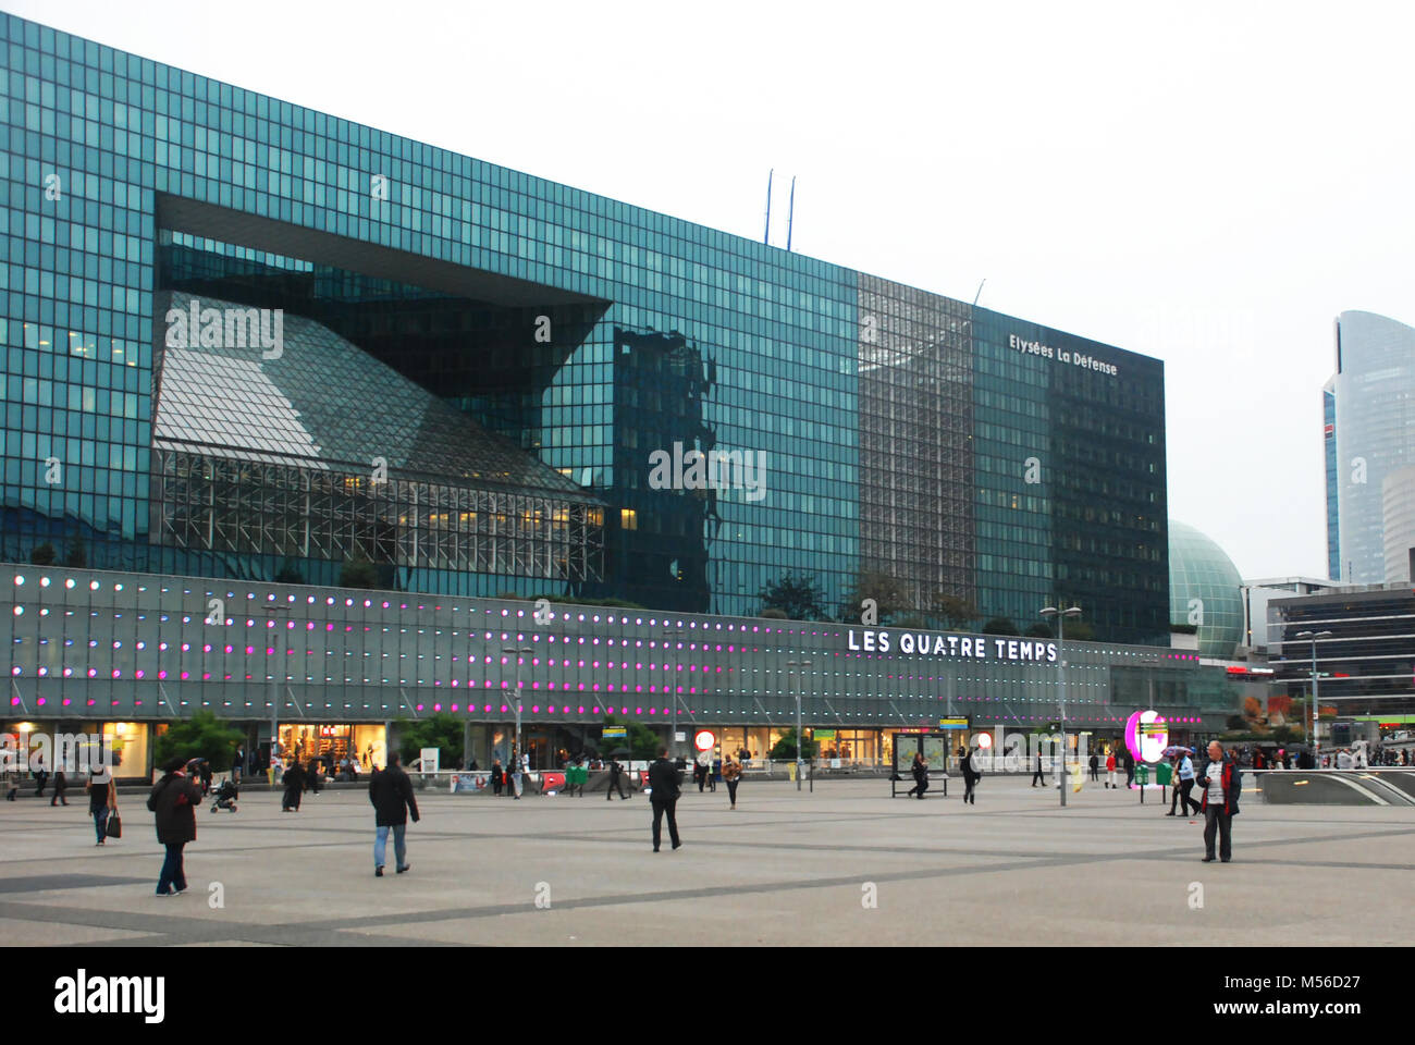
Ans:
<svg viewBox="0 0 1415 1045"><path fill-rule="evenodd" d="M1382 484L1415 464L1415 329L1370 312L1343 312L1336 320L1336 374L1323 404L1332 578L1378 585L1385 581Z"/></svg>

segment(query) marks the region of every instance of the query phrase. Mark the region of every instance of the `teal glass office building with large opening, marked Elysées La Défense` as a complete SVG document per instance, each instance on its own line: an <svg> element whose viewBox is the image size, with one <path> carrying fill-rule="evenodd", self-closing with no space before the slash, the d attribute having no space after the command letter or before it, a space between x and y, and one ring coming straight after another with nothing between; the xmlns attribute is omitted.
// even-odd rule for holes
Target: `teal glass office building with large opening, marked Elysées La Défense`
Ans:
<svg viewBox="0 0 1415 1045"><path fill-rule="evenodd" d="M0 44L6 559L727 616L887 575L901 619L1065 598L1167 641L1157 360L16 17Z"/></svg>

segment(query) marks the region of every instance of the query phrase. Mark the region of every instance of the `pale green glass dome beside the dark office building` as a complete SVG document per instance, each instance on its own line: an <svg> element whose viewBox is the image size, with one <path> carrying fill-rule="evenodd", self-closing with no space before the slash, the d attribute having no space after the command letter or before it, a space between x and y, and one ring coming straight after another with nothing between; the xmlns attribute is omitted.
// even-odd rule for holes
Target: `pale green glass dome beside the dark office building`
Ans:
<svg viewBox="0 0 1415 1045"><path fill-rule="evenodd" d="M1242 576L1224 549L1169 521L1169 620L1199 624L1201 657L1232 657L1242 639Z"/></svg>

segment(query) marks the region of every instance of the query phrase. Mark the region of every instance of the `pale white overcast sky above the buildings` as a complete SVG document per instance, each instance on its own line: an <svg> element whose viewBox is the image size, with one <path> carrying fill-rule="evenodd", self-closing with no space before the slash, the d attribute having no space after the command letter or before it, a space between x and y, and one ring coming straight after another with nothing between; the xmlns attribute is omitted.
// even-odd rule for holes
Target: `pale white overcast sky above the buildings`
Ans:
<svg viewBox="0 0 1415 1045"><path fill-rule="evenodd" d="M1170 517L1326 576L1332 320L1415 324L1415 4L4 10L1165 360ZM777 218L780 217L780 222Z"/></svg>

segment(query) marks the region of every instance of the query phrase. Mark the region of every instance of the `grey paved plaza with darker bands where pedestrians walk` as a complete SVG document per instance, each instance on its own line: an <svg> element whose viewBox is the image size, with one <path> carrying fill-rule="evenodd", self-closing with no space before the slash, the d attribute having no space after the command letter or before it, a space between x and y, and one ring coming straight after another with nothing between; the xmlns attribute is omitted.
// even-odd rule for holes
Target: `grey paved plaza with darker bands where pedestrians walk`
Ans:
<svg viewBox="0 0 1415 1045"><path fill-rule="evenodd" d="M957 783L957 782L955 782ZM412 871L372 874L364 789L248 793L200 811L191 892L156 898L161 850L142 797L93 845L68 809L0 803L0 933L13 944L1405 944L1415 810L1265 806L1234 821L1232 864L1200 864L1200 826L1157 796L985 777L889 797L887 780L685 790L683 848L651 852L642 796L419 794ZM666 827L666 826L665 826ZM392 844L389 844L392 848ZM388 854L392 864L392 851ZM211 905L219 882L224 906ZM867 884L877 906L869 908ZM1193 898L1203 891L1203 906ZM536 906L538 898L542 906Z"/></svg>

